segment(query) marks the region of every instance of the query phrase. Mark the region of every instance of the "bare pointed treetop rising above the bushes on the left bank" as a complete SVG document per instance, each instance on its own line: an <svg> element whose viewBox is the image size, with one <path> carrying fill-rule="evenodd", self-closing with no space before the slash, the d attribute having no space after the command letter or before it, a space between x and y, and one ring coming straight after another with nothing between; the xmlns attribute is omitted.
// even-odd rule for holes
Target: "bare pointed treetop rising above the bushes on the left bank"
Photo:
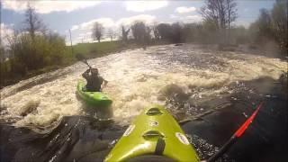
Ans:
<svg viewBox="0 0 288 162"><path fill-rule="evenodd" d="M45 24L42 23L39 15L36 14L35 9L31 7L30 4L28 4L27 10L25 12L24 24L24 31L29 32L32 40L34 40L36 32L41 32L45 34L45 32L47 31Z"/></svg>

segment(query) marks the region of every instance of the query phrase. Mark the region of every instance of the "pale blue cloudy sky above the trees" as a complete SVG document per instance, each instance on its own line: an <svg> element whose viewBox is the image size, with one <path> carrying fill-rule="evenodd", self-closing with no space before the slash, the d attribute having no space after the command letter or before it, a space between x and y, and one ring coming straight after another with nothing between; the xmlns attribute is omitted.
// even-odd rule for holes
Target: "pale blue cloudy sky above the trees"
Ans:
<svg viewBox="0 0 288 162"><path fill-rule="evenodd" d="M22 29L25 0L1 0L1 39ZM259 14L259 9L271 9L275 0L237 0L238 19L234 25L248 27ZM73 44L91 42L91 29L95 22L102 23L105 31L120 31L120 25L135 21L157 23L198 23L202 21L199 9L201 0L190 1L84 1L84 0L34 0L30 4L51 31L63 35L69 41L69 30ZM103 40L108 40L105 34Z"/></svg>

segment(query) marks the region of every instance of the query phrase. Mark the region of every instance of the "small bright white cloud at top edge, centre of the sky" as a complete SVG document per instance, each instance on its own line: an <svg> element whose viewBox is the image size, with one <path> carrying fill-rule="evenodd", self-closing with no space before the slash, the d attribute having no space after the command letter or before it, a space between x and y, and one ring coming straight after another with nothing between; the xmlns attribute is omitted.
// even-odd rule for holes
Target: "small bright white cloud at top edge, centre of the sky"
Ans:
<svg viewBox="0 0 288 162"><path fill-rule="evenodd" d="M145 12L156 10L158 8L166 7L167 1L126 1L126 10L132 12Z"/></svg>

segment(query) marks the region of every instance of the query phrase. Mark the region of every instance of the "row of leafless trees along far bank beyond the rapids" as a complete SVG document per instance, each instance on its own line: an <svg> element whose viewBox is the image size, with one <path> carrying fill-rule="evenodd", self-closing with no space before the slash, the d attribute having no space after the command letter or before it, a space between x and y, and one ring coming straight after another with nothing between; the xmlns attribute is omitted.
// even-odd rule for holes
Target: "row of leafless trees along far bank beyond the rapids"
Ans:
<svg viewBox="0 0 288 162"><path fill-rule="evenodd" d="M254 44L266 45L274 41L278 49L287 55L287 1L276 0L271 11L261 9L255 23L248 28L233 25L238 19L236 0L206 0L199 14L201 23L153 23L136 21L130 26L121 26L119 39L142 45L156 42L166 43L217 43L222 45ZM101 23L94 23L94 40L104 37ZM115 38L115 31L108 31ZM130 36L130 39L129 39ZM112 37L111 37L112 40Z"/></svg>

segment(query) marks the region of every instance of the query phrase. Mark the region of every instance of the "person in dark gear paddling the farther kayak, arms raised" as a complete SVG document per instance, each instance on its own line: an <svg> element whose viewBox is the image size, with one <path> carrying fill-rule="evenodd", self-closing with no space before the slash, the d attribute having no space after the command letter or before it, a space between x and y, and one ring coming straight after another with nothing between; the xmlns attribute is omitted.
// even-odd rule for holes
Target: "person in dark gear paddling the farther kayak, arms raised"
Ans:
<svg viewBox="0 0 288 162"><path fill-rule="evenodd" d="M100 92L102 85L107 85L108 81L99 76L97 68L87 69L82 76L86 79L87 85L85 86L86 91Z"/></svg>

